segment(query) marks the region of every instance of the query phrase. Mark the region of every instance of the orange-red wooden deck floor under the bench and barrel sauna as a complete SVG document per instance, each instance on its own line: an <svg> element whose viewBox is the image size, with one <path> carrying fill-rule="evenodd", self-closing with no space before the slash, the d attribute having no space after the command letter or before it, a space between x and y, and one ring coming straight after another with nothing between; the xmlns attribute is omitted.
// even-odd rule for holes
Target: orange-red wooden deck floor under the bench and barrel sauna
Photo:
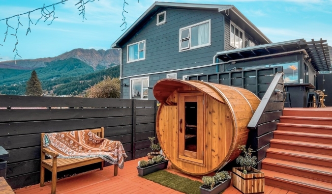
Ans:
<svg viewBox="0 0 332 194"><path fill-rule="evenodd" d="M114 176L113 166L104 170L93 170L75 176L58 180L57 194L181 194L178 191L164 187L152 181L137 176L137 163L143 158L127 161L124 169L119 169L118 176ZM167 171L201 181L200 178L182 174L181 172L167 169ZM16 194L50 194L51 183L44 187L32 185L14 191ZM224 194L241 194L230 186ZM265 194L296 194L279 188L265 186Z"/></svg>

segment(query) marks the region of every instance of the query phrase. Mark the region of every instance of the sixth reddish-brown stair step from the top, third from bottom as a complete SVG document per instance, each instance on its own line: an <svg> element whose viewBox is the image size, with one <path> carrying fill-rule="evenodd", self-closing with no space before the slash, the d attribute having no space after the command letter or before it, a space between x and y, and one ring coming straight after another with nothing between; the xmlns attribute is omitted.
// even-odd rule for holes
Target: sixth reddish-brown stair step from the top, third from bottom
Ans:
<svg viewBox="0 0 332 194"><path fill-rule="evenodd" d="M270 147L267 158L299 162L309 165L332 167L332 156Z"/></svg>

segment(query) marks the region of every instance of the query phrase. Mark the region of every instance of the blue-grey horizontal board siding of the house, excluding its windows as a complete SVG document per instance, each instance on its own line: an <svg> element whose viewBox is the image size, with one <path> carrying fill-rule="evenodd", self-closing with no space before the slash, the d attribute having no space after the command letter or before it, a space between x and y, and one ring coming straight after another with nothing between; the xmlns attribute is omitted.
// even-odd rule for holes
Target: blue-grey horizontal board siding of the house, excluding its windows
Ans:
<svg viewBox="0 0 332 194"><path fill-rule="evenodd" d="M163 11L166 11L166 23L156 26L157 14ZM117 41L116 48L122 50L121 98L130 98L130 79L133 78L149 77L149 87L153 87L158 80L166 78L167 73L159 73L163 71L176 72L177 79L182 79L185 75L220 71L216 65L179 69L210 65L217 52L235 49L230 46L230 19L218 9L159 7L151 12L153 13ZM180 28L208 20L211 22L211 45L179 52ZM238 20L233 22L243 23ZM245 31L245 40L249 38L253 40ZM127 45L144 40L145 59L127 63ZM152 89L149 89L148 98L154 99Z"/></svg>

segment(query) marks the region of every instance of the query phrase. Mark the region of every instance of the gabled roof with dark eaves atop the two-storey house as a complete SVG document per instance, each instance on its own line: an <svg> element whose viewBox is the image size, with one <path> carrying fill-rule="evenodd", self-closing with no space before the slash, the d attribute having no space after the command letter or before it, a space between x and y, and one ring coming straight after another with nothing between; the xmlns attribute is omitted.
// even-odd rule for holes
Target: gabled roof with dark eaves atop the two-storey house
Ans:
<svg viewBox="0 0 332 194"><path fill-rule="evenodd" d="M160 8L178 8L193 10L214 10L227 15L231 20L243 21L237 25L245 32L249 32L260 43L272 43L271 40L253 25L234 5L217 5L217 4L196 4L196 3L176 3L176 2L154 2L151 7L139 17L136 22L130 26L113 44L112 48L120 48L125 43L127 37L139 30L140 25L151 18Z"/></svg>

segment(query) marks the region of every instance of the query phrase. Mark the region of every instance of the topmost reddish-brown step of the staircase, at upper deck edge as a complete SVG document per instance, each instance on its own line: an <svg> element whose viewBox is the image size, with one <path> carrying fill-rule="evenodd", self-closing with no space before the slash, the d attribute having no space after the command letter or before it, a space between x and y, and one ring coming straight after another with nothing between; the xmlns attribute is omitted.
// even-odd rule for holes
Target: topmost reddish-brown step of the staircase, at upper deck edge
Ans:
<svg viewBox="0 0 332 194"><path fill-rule="evenodd" d="M284 109L283 116L315 116L315 117L332 117L332 111L326 111L320 108L307 108L307 109Z"/></svg>

